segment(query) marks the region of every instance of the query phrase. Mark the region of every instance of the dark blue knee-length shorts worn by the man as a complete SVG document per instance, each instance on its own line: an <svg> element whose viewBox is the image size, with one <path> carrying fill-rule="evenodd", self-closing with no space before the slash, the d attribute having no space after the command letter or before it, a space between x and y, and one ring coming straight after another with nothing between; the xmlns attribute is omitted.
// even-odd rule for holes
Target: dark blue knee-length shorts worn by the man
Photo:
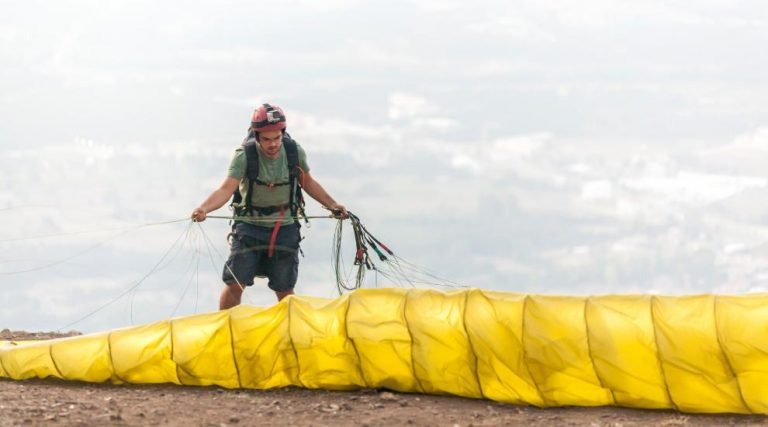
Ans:
<svg viewBox="0 0 768 427"><path fill-rule="evenodd" d="M299 226L294 223L280 227L275 250L270 258L269 240L272 231L272 227L243 223L235 225L229 259L222 273L224 283L234 285L240 282L243 286L251 286L254 277L266 277L273 291L287 292L293 289L299 276Z"/></svg>

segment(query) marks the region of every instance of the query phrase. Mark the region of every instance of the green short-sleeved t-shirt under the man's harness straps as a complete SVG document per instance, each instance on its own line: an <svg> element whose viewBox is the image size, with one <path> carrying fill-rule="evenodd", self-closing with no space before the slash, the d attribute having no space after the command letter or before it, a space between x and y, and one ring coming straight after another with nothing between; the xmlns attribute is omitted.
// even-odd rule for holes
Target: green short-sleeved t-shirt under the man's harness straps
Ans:
<svg viewBox="0 0 768 427"><path fill-rule="evenodd" d="M299 152L299 167L304 172L309 172L307 154L298 143L296 148ZM283 145L280 148L280 155L276 159L267 158L261 151L259 144L256 144L256 150L259 152L259 180L274 184L287 183L289 181L288 155L285 153L285 146ZM248 192L248 178L245 176L246 163L245 149L240 146L235 150L232 161L229 164L229 171L227 172L228 177L240 180L240 194L243 195L243 199L245 199L245 194ZM291 189L288 185L276 185L270 188L254 183L251 205L255 207L285 205L288 203L290 194ZM245 200L243 200L243 203L245 203ZM265 221L258 222L257 225L272 226L279 217L279 211L271 215L260 216L259 219ZM282 223L286 225L293 222L290 210L286 210Z"/></svg>

